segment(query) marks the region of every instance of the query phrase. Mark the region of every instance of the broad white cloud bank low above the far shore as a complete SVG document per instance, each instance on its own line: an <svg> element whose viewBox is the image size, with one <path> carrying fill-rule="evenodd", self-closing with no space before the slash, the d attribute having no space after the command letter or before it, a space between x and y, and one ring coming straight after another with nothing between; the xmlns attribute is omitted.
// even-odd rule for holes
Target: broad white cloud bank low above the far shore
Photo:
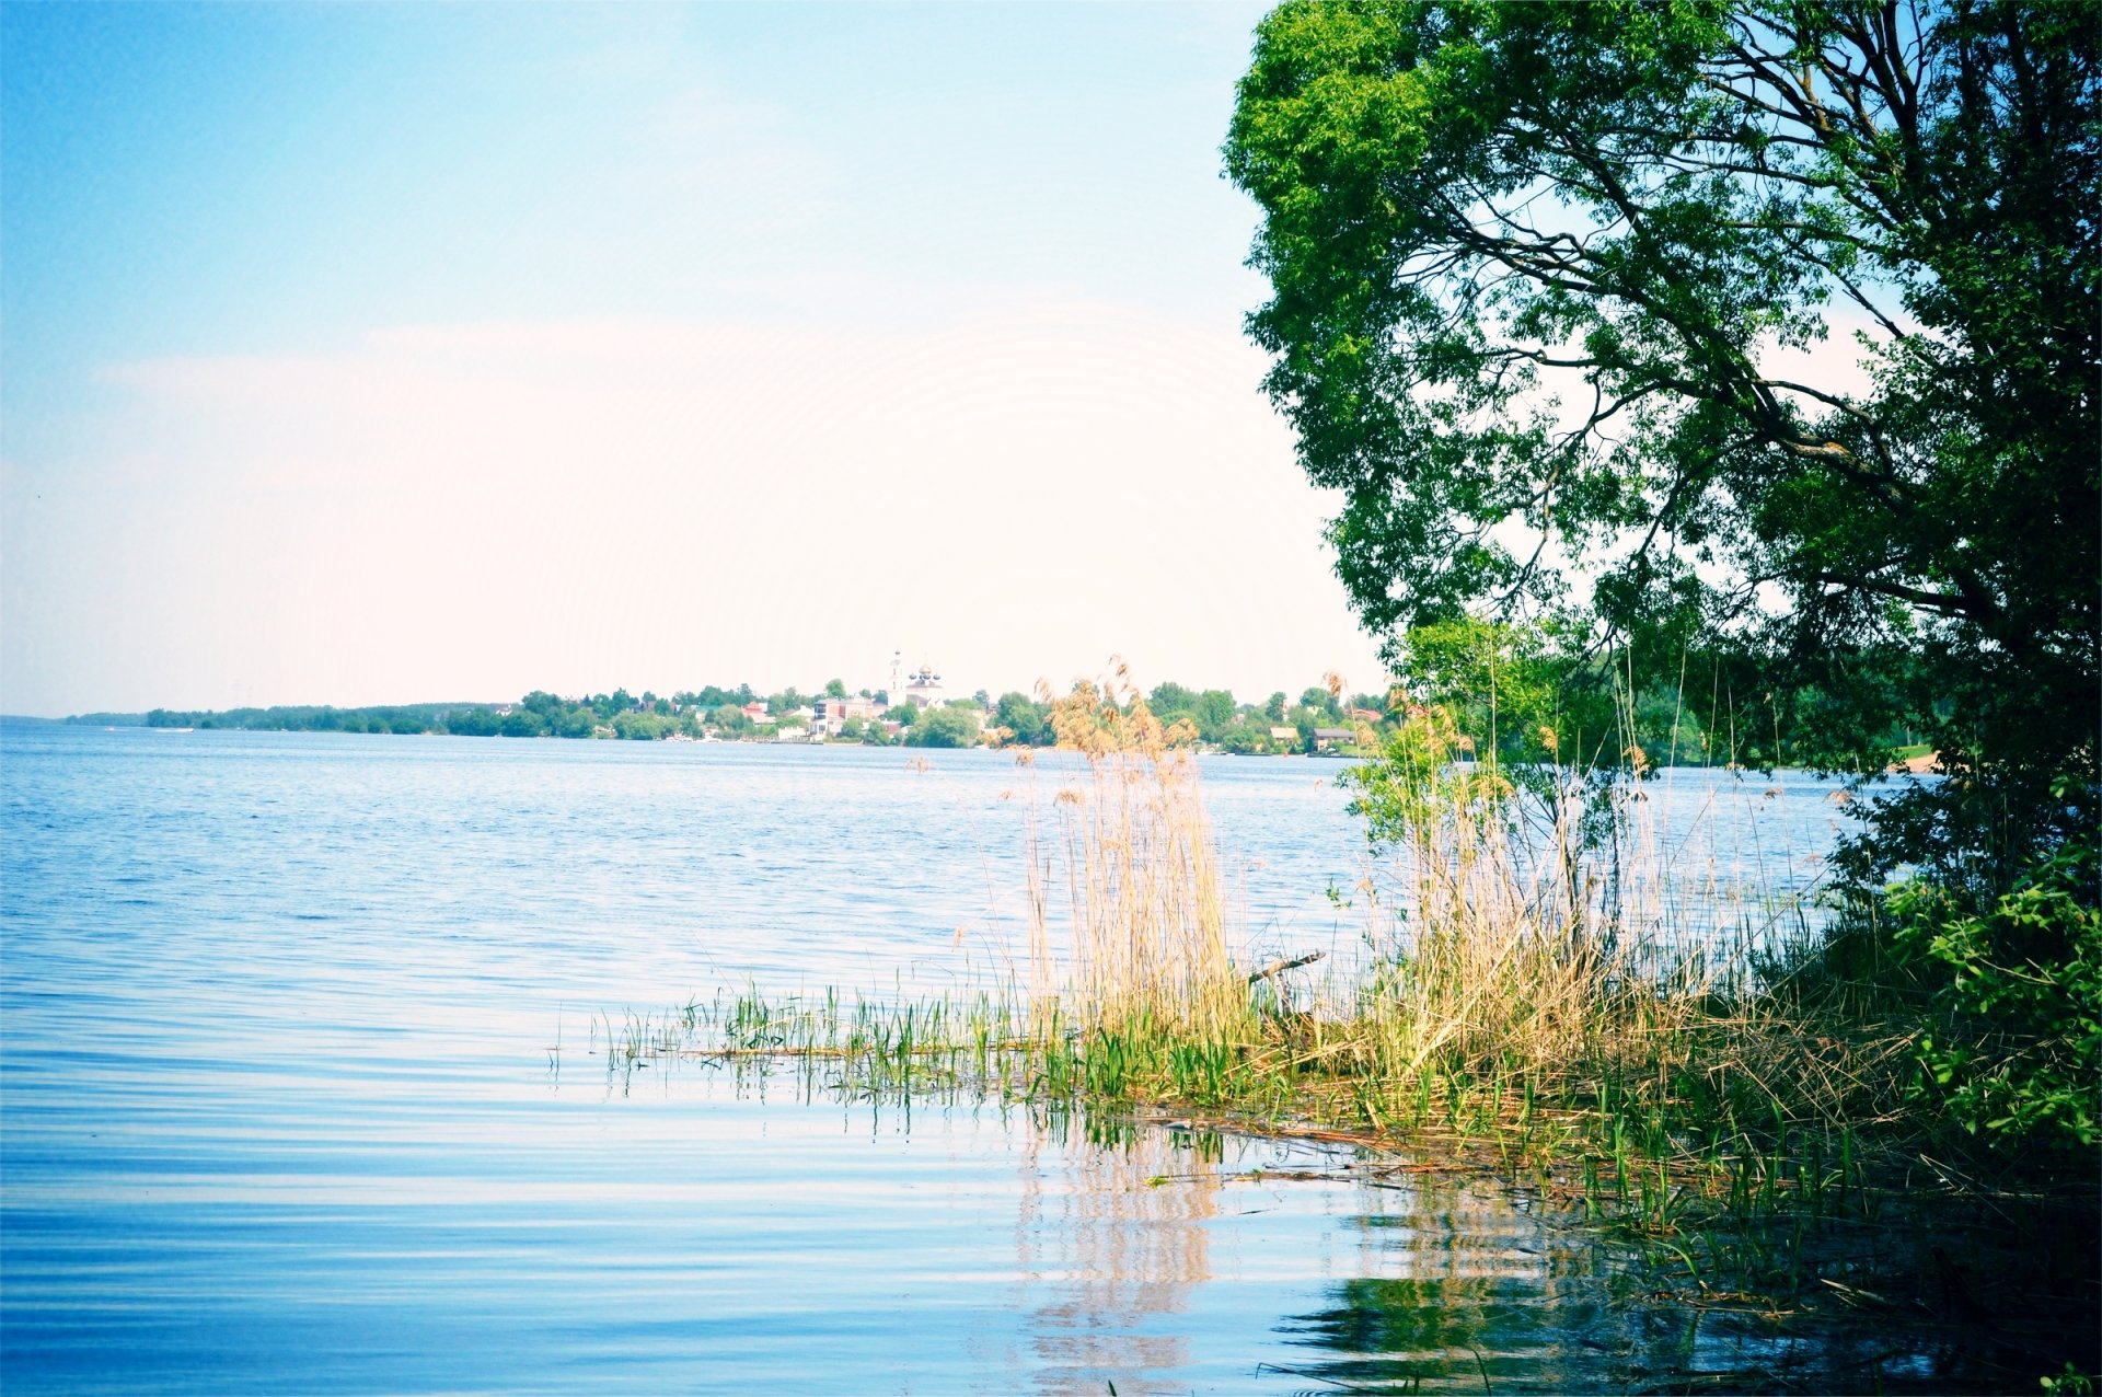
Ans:
<svg viewBox="0 0 2102 1397"><path fill-rule="evenodd" d="M877 685L893 647L967 689L1112 651L1148 681L1371 685L1261 370L1228 328L1078 300L889 332L401 326L118 366L99 454L34 473L11 519L34 536L11 550L11 702Z"/></svg>

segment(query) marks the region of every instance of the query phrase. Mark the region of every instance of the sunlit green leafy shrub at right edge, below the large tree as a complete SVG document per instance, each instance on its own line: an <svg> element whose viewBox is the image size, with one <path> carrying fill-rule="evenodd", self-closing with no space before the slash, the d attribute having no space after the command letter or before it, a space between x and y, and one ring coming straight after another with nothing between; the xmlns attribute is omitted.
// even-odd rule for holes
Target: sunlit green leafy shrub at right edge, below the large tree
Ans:
<svg viewBox="0 0 2102 1397"><path fill-rule="evenodd" d="M1890 895L1892 939L1934 985L1921 1092L1967 1130L2102 1139L2102 914L2096 849L2075 840L1984 912L1946 889Z"/></svg>

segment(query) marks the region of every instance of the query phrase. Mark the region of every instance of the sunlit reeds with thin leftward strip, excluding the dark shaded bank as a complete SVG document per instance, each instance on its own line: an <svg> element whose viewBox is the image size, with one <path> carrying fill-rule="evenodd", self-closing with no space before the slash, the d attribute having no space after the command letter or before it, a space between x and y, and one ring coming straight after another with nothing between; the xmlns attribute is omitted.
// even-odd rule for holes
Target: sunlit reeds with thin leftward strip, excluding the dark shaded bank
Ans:
<svg viewBox="0 0 2102 1397"><path fill-rule="evenodd" d="M1843 1128L1888 1067L1749 994L1740 958L1675 935L1640 811L1614 811L1608 840L1574 826L1587 807L1572 790L1534 792L1528 811L1509 773L1465 760L1436 710L1402 727L1379 784L1358 781L1398 870L1385 893L1364 884L1373 956L1295 1006L1236 958L1192 733L1162 725L1120 670L1055 700L1051 723L1080 763L1022 807L1019 973L948 998L748 989L605 1019L607 1063L774 1059L849 1090L1200 1107L1383 1141L1442 1132L1509 1162L1589 1151L1610 1162L1616 1195L1652 1166L1730 1181L1757 1160L1761 1197L1782 1187L1772 1143Z"/></svg>

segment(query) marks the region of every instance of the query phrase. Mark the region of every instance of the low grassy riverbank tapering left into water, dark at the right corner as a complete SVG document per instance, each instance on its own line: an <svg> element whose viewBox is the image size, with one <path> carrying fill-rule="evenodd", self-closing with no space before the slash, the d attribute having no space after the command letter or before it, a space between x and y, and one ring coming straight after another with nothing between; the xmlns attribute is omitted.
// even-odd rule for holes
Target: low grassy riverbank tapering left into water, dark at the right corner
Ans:
<svg viewBox="0 0 2102 1397"><path fill-rule="evenodd" d="M1806 1050L1806 1069L1793 1082L1755 1071L1747 1023L1761 1025L1770 1057ZM1225 1132L1343 1149L1389 1179L1492 1181L1598 1246L1631 1248L1661 1317L1751 1323L1804 1361L1860 1355L1858 1382L1827 1376L1814 1391L2028 1393L2068 1365L2096 1372L2096 1189L2081 1160L2056 1174L2035 1160L2026 1174L1993 1170L1986 1155L1944 1153L1917 1122L1835 1126L1837 1103L1804 1088L1873 1069L1860 1034L1820 1044L1801 1017L1782 1027L1751 1000L1682 1025L1669 1050L1654 1031L1623 1038L1631 1052L1598 1044L1587 1071L1444 1059L1400 1080L1368 1061L1364 1023L1257 1008L1238 1027L1089 1025L994 996L723 996L605 1021L589 1052L603 1052L622 1090L685 1063L759 1094L883 1103L906 1118L984 1103L1074 1113L1095 1137L1127 1124ZM1707 1082L1734 1069L1738 1090L1703 1099L1686 1073L1703 1059ZM1711 1374L1703 1391L1801 1389L1753 1365L1719 1384Z"/></svg>

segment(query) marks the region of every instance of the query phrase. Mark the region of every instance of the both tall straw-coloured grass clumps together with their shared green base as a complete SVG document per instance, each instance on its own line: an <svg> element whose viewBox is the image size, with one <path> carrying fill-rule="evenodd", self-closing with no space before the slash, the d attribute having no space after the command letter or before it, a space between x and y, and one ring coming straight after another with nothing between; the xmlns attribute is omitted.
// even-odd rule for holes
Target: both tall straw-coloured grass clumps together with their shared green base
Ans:
<svg viewBox="0 0 2102 1397"><path fill-rule="evenodd" d="M1234 962L1192 733L1122 670L1051 721L1085 773L1030 845L1034 1090L1379 1137L1518 1126L1707 1189L1757 1160L1766 1197L1806 1187L1791 1149L1852 1151L1902 1107L1902 1031L1774 994L1743 947L1688 931L1631 792L1600 838L1574 773L1474 760L1448 712L1413 710L1345 775L1394 859L1364 884L1373 954L1293 1008Z"/></svg>

